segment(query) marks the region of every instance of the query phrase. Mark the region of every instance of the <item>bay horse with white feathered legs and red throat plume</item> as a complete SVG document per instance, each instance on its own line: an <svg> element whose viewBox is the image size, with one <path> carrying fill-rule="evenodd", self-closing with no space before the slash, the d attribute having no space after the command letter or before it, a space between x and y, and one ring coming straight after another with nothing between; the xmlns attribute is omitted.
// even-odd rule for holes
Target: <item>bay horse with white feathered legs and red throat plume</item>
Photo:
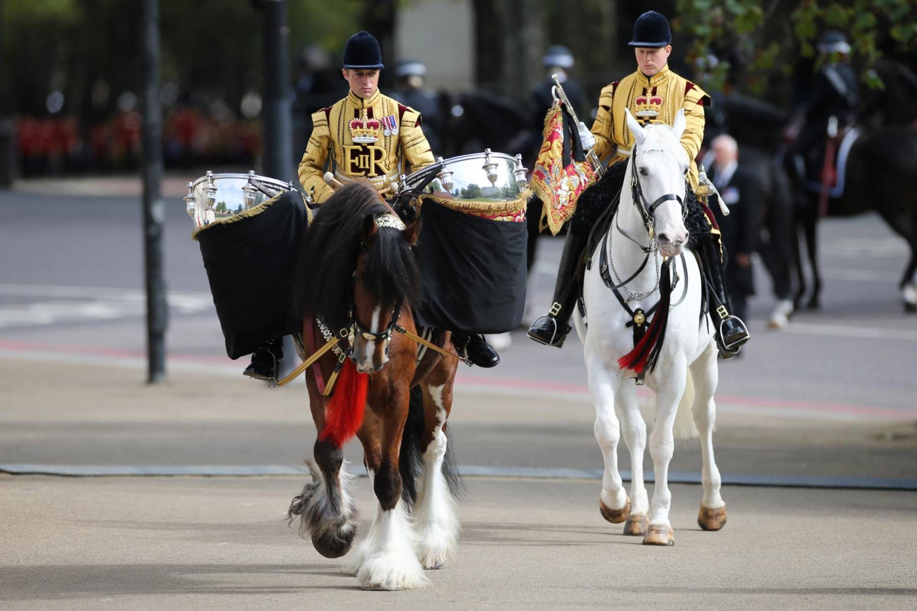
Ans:
<svg viewBox="0 0 917 611"><path fill-rule="evenodd" d="M418 362L418 344L398 333L417 331L418 231L419 221L405 227L368 183L350 183L316 213L293 274L305 343L324 344L331 333L349 339L306 371L315 463L288 516L326 558L348 553L357 511L342 446L356 435L379 501L344 567L364 589L424 586L424 569L442 567L458 538L460 482L446 435L458 358L426 350ZM448 333L439 335L437 344L454 355Z"/></svg>

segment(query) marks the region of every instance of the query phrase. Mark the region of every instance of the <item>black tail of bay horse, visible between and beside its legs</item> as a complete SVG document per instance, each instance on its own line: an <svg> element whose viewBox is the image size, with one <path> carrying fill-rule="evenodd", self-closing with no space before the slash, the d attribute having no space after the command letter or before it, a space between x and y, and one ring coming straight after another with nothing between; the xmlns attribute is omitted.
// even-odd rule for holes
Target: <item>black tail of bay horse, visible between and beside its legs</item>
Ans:
<svg viewBox="0 0 917 611"><path fill-rule="evenodd" d="M447 430L447 427L444 427L444 431ZM402 498L408 507L414 507L417 500L417 481L424 472L424 431L424 392L420 386L415 386L411 388L411 400L402 432L401 451L398 455L398 473L402 476ZM454 498L464 496L465 485L461 481L461 476L458 475L451 442L446 445L442 471L449 487L449 493Z"/></svg>

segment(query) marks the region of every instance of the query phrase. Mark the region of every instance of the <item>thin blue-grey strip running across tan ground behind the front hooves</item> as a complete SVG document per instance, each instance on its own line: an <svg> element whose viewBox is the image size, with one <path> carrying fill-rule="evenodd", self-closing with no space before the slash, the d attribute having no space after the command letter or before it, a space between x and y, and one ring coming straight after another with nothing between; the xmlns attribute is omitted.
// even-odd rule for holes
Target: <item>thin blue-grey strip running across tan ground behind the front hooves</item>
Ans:
<svg viewBox="0 0 917 611"><path fill-rule="evenodd" d="M352 465L353 475L366 477L366 469ZM224 476L305 475L308 470L295 464L0 464L0 472L10 475L64 475L71 477L110 476ZM501 477L511 479L602 479L602 469L483 466L461 464L463 477ZM856 488L864 490L917 490L917 479L905 477L847 477L842 475L763 475L721 474L725 486L773 486L800 488ZM630 471L621 471L624 481ZM655 480L653 473L644 475ZM701 474L668 472L669 484L701 484Z"/></svg>

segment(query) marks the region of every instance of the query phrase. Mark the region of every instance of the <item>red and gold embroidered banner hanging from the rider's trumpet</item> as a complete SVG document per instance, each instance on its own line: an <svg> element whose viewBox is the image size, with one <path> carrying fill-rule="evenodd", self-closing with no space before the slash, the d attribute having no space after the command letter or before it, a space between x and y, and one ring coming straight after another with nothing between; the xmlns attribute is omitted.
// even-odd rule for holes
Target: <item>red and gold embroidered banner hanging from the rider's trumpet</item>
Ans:
<svg viewBox="0 0 917 611"><path fill-rule="evenodd" d="M595 181L589 162L570 156L570 127L568 116L555 102L545 117L545 139L532 172L532 191L543 205L539 229L547 227L552 235L558 235L576 212L580 193Z"/></svg>

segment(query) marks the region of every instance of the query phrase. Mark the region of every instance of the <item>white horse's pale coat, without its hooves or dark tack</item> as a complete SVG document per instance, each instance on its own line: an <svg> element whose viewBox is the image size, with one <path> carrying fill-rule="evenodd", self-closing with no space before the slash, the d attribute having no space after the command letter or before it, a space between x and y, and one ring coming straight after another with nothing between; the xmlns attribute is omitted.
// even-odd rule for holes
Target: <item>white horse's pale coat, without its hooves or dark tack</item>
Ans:
<svg viewBox="0 0 917 611"><path fill-rule="evenodd" d="M684 168L687 155L679 144L677 132L683 117L677 118L676 129L663 125L642 127L631 116L627 125L635 136L637 160L646 167L641 176L641 188L647 202L655 201L665 193L682 194ZM628 162L624 185L629 185L635 171L633 158ZM649 239L643 221L634 205L629 189L621 193L617 223L628 235L644 244ZM665 202L656 211L657 235L665 228L681 229L678 202ZM675 234L679 232L675 231ZM670 236L677 238L678 235ZM643 253L622 235L613 235L610 258L621 278L630 276L643 261ZM601 247L601 245L599 246ZM593 253L593 260L597 259ZM631 485L631 512L646 513L652 524L668 525L671 495L668 491L668 463L674 451L673 427L679 414L679 403L690 404L694 423L700 430L704 485L703 504L706 507L724 505L720 496L720 475L713 460L713 392L716 389L716 346L713 342L713 323L710 318L698 324L701 311L702 278L700 269L690 253L684 254L685 267L680 258L673 259L672 267L678 270L679 283L672 294L672 302L679 305L668 312L668 325L661 354L654 372L646 375L646 386L656 393L656 418L649 436L648 447L653 457L656 486L652 502L646 497L643 477L643 454L647 446L646 423L636 401L632 372L624 372L617 360L634 348L633 334L626 322L630 316L615 299L612 291L602 282L599 266L592 266L583 282L583 295L589 315L588 329L582 324L579 312L574 316L577 330L583 340L590 392L596 409L595 437L602 448L605 469L602 475L602 502L609 508L624 507L626 498L621 476L618 473L616 444L623 435L631 452L633 478ZM635 293L654 289L657 285L656 267L650 262L644 271L627 284ZM682 293L687 285L687 293ZM626 294L624 290L622 290ZM658 300L658 292L641 301L632 301L632 308L648 310ZM689 371L691 366L691 371ZM688 377L694 382L693 400ZM686 386L688 387L686 392ZM681 399L684 399L683 401ZM682 409L682 416L687 410ZM620 418L620 421L618 420ZM679 427L681 428L681 427ZM691 427L688 427L689 429Z"/></svg>

